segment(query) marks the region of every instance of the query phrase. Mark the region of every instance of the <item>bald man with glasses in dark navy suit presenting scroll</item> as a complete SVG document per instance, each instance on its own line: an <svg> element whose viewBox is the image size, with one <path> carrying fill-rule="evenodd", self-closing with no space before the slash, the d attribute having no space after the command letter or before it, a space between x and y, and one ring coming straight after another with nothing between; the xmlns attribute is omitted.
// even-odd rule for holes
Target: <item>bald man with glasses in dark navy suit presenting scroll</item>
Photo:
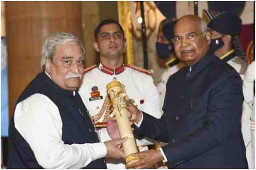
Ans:
<svg viewBox="0 0 256 170"><path fill-rule="evenodd" d="M248 168L238 72L209 52L210 33L198 16L178 20L172 42L187 66L167 82L162 117L156 119L127 103L138 127L135 133L168 145L134 154L141 159L127 168L147 168L161 160L168 168Z"/></svg>

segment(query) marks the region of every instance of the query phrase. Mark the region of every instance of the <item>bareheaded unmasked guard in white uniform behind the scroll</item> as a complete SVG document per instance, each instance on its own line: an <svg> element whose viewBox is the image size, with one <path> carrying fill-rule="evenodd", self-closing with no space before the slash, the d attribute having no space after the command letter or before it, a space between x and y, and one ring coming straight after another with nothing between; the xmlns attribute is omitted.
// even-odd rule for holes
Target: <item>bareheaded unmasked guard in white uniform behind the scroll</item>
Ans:
<svg viewBox="0 0 256 170"><path fill-rule="evenodd" d="M104 127L111 113L106 85L116 78L125 86L126 94L138 109L160 118L159 96L151 72L142 68L124 65L125 39L122 27L114 20L102 21L95 30L94 48L99 52L100 64L84 70L79 94L98 127ZM109 140L106 130L99 134L101 140ZM136 139L137 146L154 141ZM147 147L139 147L145 150ZM109 169L124 169L124 160L107 159Z"/></svg>

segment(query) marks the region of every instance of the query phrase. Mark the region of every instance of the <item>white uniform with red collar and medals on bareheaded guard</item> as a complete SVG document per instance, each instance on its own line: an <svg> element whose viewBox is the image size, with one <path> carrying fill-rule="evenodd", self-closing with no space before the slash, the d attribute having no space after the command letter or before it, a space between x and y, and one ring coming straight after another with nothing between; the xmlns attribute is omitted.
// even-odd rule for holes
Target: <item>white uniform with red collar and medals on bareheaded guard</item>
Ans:
<svg viewBox="0 0 256 170"><path fill-rule="evenodd" d="M124 64L113 70L101 63L84 70L84 78L79 89L79 94L90 115L97 122L106 122L110 114L110 101L106 85L116 78L125 86L126 93L138 106L138 109L160 118L160 100L154 85L153 78L147 70ZM106 116L105 116L106 115ZM106 129L106 128L105 128ZM99 137L102 141L110 140L106 130L101 131ZM154 141L144 138L136 139L137 146L150 145ZM143 150L147 149L144 147ZM106 159L108 169L124 169L124 160Z"/></svg>

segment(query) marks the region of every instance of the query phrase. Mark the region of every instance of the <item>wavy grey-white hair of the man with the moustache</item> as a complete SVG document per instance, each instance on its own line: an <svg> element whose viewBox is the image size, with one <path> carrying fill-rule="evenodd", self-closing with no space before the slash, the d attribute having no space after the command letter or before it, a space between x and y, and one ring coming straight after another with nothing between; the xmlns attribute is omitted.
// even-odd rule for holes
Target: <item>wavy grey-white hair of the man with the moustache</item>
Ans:
<svg viewBox="0 0 256 170"><path fill-rule="evenodd" d="M41 59L41 69L44 70L45 60L49 59L50 61L53 60L54 51L56 49L56 45L63 45L69 41L74 41L80 45L82 49L82 53L84 56L85 50L82 41L76 38L74 35L65 32L58 32L50 37L48 37L44 41L44 45L42 48L42 59Z"/></svg>

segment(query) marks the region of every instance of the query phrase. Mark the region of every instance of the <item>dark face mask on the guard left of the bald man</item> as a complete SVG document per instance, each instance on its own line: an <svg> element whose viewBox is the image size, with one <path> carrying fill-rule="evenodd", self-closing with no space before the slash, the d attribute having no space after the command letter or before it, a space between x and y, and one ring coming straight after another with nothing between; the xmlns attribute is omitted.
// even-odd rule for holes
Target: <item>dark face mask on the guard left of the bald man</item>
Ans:
<svg viewBox="0 0 256 170"><path fill-rule="evenodd" d="M167 59L173 51L173 45L156 42L156 53L161 59Z"/></svg>

